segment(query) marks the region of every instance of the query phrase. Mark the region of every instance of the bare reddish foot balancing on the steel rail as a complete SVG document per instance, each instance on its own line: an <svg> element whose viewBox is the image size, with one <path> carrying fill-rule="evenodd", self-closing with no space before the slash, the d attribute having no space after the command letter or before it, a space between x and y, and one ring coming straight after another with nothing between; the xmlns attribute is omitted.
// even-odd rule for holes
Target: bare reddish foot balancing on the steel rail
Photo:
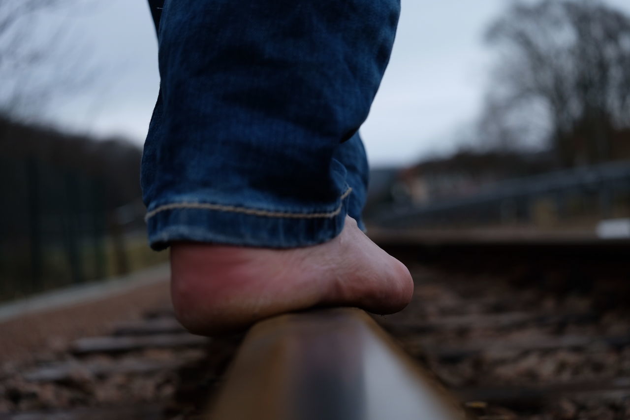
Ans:
<svg viewBox="0 0 630 420"><path fill-rule="evenodd" d="M341 234L306 248L277 250L207 243L171 246L171 296L195 334L241 329L314 306L403 309L413 293L407 268L347 217Z"/></svg>

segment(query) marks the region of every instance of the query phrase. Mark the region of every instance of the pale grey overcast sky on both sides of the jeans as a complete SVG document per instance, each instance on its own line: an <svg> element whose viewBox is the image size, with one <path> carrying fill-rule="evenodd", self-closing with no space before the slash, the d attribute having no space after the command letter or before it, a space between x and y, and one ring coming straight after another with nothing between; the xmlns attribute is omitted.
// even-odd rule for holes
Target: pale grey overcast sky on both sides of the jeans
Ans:
<svg viewBox="0 0 630 420"><path fill-rule="evenodd" d="M59 124L142 143L156 100L157 45L145 0L108 0L71 16L100 69L86 94L54 103ZM405 165L455 148L479 112L493 54L484 28L508 0L403 0L391 62L361 129L374 166ZM630 1L609 0L630 13Z"/></svg>

